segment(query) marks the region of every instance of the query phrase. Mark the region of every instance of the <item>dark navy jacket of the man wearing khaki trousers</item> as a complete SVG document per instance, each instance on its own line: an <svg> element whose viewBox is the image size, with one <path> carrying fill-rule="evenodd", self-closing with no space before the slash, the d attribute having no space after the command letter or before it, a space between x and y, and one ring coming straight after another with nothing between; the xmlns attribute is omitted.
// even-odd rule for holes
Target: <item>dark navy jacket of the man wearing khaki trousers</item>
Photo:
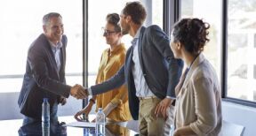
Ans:
<svg viewBox="0 0 256 136"><path fill-rule="evenodd" d="M142 26L139 36L140 66L150 90L160 99L166 95L175 98L175 87L180 80L183 62L173 57L169 38L159 26ZM126 82L129 91L129 106L133 119L139 116L139 99L132 77L132 53L129 48L125 64L116 75L107 81L92 86L92 94L101 94Z"/></svg>

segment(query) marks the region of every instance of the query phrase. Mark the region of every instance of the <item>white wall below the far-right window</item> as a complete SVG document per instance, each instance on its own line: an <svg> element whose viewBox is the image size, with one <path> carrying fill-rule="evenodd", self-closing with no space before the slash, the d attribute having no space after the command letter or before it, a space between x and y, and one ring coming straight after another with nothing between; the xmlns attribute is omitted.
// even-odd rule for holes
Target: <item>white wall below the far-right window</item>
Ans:
<svg viewBox="0 0 256 136"><path fill-rule="evenodd" d="M222 102L222 116L230 123L243 125L245 127L244 136L256 135L256 108Z"/></svg>

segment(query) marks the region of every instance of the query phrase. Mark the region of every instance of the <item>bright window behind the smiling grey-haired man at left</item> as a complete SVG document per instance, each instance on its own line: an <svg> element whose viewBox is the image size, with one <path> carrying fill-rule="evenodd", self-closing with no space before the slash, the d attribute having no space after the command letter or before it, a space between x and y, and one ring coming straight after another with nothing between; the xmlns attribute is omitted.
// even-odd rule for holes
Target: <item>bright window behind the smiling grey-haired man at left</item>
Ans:
<svg viewBox="0 0 256 136"><path fill-rule="evenodd" d="M68 36L66 79L68 85L83 84L83 5L82 0L2 0L0 2L0 97L6 99L0 103L0 109L10 105L10 111L1 112L0 119L9 113L19 114L18 95L26 68L28 47L43 33L44 14L60 12L64 23L64 34ZM11 94L14 94L11 96ZM8 98L7 98L8 97ZM68 105L60 115L73 115L72 110L80 110L81 101L68 98ZM74 99L76 100L76 99ZM10 102L12 101L12 102ZM76 106L75 106L76 105ZM68 109L68 110L67 110ZM72 109L72 110L70 110ZM13 111L17 110L17 111ZM60 110L59 110L60 111ZM11 115L12 117L19 117ZM10 118L11 119L11 118ZM13 118L12 118L13 119Z"/></svg>

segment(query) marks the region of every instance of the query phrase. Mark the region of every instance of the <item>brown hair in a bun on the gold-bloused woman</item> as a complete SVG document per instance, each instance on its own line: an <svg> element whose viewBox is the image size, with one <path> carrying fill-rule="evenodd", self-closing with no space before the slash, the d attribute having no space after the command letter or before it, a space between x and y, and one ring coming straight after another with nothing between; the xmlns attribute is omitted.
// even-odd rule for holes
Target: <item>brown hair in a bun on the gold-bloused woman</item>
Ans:
<svg viewBox="0 0 256 136"><path fill-rule="evenodd" d="M110 13L107 15L106 18L107 22L113 26L115 26L116 32L121 32L121 26L118 24L120 17L117 13Z"/></svg>

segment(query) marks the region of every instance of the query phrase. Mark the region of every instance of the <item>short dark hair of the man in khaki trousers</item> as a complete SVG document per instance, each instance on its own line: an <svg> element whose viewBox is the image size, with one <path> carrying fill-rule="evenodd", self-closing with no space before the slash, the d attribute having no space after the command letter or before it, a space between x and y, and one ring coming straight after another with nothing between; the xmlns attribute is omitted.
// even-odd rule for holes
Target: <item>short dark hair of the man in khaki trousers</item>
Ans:
<svg viewBox="0 0 256 136"><path fill-rule="evenodd" d="M131 16L132 21L137 25L143 24L147 16L147 12L140 2L126 3L122 13L125 16Z"/></svg>

